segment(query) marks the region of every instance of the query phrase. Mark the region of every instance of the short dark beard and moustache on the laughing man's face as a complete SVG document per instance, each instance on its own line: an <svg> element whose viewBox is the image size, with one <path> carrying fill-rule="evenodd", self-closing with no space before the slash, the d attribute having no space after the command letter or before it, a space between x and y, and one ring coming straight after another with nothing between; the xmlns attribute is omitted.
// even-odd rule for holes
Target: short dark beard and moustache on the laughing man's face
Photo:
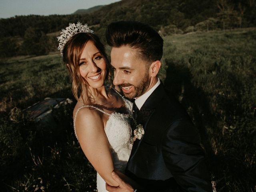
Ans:
<svg viewBox="0 0 256 192"><path fill-rule="evenodd" d="M138 84L138 85L132 85L132 84L120 84L121 87L128 87L128 86L134 86L134 91L130 92L130 93L124 93L124 96L126 96L127 98L133 99L133 98L137 98L139 96L142 96L146 90L148 90L150 84L150 77L148 74L145 74L144 78L142 79L142 81Z"/></svg>

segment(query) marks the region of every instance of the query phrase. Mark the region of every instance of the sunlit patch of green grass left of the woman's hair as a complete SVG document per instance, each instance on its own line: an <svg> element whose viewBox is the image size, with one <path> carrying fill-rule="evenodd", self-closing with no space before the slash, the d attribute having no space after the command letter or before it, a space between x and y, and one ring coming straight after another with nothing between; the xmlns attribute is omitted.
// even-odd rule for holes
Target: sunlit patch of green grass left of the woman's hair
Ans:
<svg viewBox="0 0 256 192"><path fill-rule="evenodd" d="M34 102L70 89L66 67L59 54L14 57L1 61L1 96L6 108L26 108Z"/></svg>

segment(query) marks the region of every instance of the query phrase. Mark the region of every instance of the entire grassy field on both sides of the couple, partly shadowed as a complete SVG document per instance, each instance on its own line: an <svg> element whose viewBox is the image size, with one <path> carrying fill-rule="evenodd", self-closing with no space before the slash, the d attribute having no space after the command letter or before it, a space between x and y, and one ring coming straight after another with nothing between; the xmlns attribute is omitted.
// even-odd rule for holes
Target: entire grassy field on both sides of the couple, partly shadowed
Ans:
<svg viewBox="0 0 256 192"><path fill-rule="evenodd" d="M160 78L187 109L218 191L256 190L256 29L164 37ZM72 129L74 104L50 125L22 110L69 97L59 54L0 60L0 177L4 191L95 191L95 172Z"/></svg>

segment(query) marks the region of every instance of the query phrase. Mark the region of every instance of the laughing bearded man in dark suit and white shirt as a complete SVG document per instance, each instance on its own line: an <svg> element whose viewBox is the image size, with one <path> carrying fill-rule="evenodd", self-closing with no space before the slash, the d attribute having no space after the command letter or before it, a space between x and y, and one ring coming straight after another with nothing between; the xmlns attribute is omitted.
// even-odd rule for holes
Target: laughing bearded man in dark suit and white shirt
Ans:
<svg viewBox="0 0 256 192"><path fill-rule="evenodd" d="M157 74L163 40L150 26L139 22L114 22L106 30L112 46L114 85L127 98L135 98L134 114L144 136L133 144L126 175L143 189L124 182L110 192L210 192L210 177L196 129L180 103L167 94Z"/></svg>

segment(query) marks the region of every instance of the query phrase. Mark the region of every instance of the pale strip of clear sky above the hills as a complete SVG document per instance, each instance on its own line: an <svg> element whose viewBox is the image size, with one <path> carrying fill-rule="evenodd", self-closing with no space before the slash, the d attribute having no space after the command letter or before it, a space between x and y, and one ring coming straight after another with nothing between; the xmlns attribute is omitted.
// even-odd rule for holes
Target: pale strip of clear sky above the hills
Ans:
<svg viewBox="0 0 256 192"><path fill-rule="evenodd" d="M78 9L108 5L120 0L0 0L0 18L16 15L71 14Z"/></svg>

